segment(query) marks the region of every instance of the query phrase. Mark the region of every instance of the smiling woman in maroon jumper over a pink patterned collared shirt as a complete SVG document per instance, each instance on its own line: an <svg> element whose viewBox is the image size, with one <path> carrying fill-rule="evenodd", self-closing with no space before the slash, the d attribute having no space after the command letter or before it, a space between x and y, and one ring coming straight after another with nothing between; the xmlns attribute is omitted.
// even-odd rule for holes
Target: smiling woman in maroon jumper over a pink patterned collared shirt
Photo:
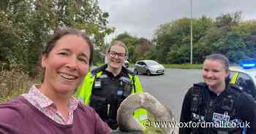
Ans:
<svg viewBox="0 0 256 134"><path fill-rule="evenodd" d="M93 109L72 97L92 53L93 44L80 31L57 31L42 52L42 84L0 105L0 133L110 133Z"/></svg>

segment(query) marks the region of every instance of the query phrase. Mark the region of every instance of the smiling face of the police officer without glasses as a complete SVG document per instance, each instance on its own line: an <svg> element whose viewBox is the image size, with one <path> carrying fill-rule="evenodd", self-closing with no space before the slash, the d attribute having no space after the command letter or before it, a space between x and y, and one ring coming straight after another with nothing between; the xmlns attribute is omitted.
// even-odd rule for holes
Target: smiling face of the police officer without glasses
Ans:
<svg viewBox="0 0 256 134"><path fill-rule="evenodd" d="M229 73L221 60L208 59L203 63L203 80L212 89L225 86L225 78Z"/></svg>

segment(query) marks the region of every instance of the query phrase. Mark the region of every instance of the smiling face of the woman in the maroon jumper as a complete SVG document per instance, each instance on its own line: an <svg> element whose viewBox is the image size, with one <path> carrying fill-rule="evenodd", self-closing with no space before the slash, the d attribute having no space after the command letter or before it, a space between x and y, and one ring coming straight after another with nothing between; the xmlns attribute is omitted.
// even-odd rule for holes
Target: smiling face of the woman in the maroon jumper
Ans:
<svg viewBox="0 0 256 134"><path fill-rule="evenodd" d="M42 57L42 67L45 68L43 84L55 92L74 92L89 70L89 58L89 44L83 37L61 37L48 57Z"/></svg>

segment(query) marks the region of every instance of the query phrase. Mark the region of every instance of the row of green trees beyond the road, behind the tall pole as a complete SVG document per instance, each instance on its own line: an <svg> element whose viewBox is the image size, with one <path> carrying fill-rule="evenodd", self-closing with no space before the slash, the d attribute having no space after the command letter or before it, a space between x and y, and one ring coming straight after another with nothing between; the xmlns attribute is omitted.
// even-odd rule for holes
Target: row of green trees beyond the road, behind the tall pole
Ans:
<svg viewBox="0 0 256 134"><path fill-rule="evenodd" d="M255 21L241 23L241 12L220 15L216 21L202 16L193 19L193 58L202 63L211 53L221 53L231 62L242 58L256 58ZM159 25L154 33L156 50L147 57L162 63L188 63L190 54L190 20L181 18ZM153 53L155 52L155 53Z"/></svg>

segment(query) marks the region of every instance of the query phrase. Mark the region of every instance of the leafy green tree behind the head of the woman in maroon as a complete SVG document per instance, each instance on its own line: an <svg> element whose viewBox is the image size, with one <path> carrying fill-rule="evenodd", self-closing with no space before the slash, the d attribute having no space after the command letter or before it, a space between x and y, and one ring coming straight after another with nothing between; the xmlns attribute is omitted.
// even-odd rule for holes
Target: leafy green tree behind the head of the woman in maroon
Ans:
<svg viewBox="0 0 256 134"><path fill-rule="evenodd" d="M104 44L108 13L99 9L97 0L10 0L1 1L0 62L21 65L34 75L39 53L58 28L78 28Z"/></svg>

